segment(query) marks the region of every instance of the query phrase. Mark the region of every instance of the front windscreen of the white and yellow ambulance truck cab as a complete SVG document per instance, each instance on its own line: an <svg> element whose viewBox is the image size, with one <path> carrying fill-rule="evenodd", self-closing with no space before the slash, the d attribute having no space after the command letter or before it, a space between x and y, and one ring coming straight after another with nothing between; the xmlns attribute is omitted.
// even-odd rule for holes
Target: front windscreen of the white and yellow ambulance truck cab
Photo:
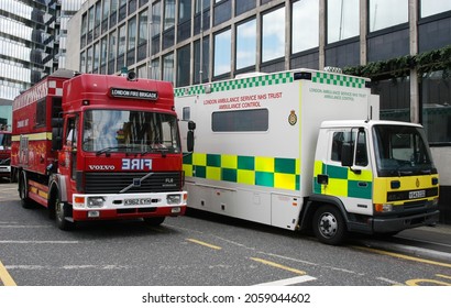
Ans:
<svg viewBox="0 0 451 308"><path fill-rule="evenodd" d="M437 173L421 129L404 125L376 125L374 134L380 176Z"/></svg>

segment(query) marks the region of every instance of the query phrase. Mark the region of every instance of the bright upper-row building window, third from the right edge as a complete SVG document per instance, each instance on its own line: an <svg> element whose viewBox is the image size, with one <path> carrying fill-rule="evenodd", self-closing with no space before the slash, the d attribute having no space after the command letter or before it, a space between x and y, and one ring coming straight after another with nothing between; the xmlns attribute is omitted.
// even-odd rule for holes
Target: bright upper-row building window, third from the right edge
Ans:
<svg viewBox="0 0 451 308"><path fill-rule="evenodd" d="M304 2L304 1L301 1ZM360 0L328 0L328 43L358 36L360 31Z"/></svg>

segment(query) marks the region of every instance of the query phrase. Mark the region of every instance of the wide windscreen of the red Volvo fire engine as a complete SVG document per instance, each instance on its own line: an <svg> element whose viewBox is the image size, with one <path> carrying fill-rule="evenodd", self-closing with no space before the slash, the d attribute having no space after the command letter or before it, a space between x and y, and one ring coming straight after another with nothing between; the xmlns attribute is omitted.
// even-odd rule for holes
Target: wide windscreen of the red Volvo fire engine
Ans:
<svg viewBox="0 0 451 308"><path fill-rule="evenodd" d="M88 110L81 147L107 152L180 153L175 116L128 110Z"/></svg>

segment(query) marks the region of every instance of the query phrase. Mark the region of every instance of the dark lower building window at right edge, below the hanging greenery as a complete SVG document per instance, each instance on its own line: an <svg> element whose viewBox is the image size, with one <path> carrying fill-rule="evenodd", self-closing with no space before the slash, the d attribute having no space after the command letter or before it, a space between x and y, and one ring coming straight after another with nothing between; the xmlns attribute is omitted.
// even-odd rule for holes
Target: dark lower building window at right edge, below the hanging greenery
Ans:
<svg viewBox="0 0 451 308"><path fill-rule="evenodd" d="M451 142L451 78L443 70L422 76L422 125L430 143Z"/></svg>

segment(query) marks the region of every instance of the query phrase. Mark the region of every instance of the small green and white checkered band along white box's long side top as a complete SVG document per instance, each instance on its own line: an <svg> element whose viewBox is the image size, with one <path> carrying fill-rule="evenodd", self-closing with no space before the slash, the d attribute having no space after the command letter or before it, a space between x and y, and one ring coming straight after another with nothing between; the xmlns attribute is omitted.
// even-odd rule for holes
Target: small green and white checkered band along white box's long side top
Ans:
<svg viewBox="0 0 451 308"><path fill-rule="evenodd" d="M201 95L206 92L206 87L210 87L210 92L221 92L235 89L249 89L264 86L282 85L293 82L293 73L284 72L272 75L262 75L249 78L233 79L213 82L210 85L197 85L191 87L176 88L175 97Z"/></svg>

